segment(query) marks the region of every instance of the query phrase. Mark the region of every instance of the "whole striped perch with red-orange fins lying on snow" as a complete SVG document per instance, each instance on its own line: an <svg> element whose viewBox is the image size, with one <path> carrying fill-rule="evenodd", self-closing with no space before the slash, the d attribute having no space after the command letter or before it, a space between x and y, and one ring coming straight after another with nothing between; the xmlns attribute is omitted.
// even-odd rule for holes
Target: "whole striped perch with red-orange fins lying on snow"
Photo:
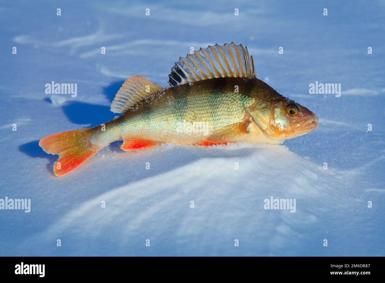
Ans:
<svg viewBox="0 0 385 283"><path fill-rule="evenodd" d="M55 175L74 171L114 141L123 141L123 151L163 143L280 144L318 127L312 111L257 78L253 56L242 44L209 45L180 57L168 84L161 87L139 75L129 77L110 106L121 116L41 139L45 152L59 155Z"/></svg>

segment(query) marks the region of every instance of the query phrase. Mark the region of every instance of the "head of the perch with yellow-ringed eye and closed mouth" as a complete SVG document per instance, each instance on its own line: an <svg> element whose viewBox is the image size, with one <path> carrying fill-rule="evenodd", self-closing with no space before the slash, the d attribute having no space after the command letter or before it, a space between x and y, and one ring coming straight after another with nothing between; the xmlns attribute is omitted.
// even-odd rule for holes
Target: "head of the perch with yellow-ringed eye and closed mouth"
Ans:
<svg viewBox="0 0 385 283"><path fill-rule="evenodd" d="M251 116L264 135L272 140L302 136L318 127L316 114L286 97L256 107Z"/></svg>

